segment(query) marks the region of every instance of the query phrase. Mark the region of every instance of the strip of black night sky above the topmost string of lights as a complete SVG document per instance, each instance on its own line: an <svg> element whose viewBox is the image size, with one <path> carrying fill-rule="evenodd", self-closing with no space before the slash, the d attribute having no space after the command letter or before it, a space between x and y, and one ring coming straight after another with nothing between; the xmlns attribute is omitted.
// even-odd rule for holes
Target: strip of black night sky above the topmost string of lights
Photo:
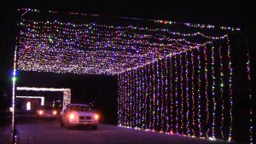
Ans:
<svg viewBox="0 0 256 144"><path fill-rule="evenodd" d="M166 19L181 22L240 27L252 25L249 21L252 21L253 19L253 9L255 8L252 0L10 0L9 3L1 2L1 6L3 7L3 11L10 11L20 7L30 7L36 9L55 9L62 12L73 11L87 14L118 15L145 19ZM251 15L252 17L248 15ZM2 19L3 16L1 14ZM5 16L8 15L5 14Z"/></svg>

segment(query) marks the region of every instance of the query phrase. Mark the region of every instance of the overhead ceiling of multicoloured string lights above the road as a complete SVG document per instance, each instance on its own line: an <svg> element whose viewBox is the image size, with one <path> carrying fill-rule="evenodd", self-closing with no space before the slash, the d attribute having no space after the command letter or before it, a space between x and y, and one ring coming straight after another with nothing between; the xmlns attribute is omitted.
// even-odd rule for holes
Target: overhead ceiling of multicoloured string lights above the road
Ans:
<svg viewBox="0 0 256 144"><path fill-rule="evenodd" d="M201 32L179 33L159 28L74 24L57 20L22 20L19 26L18 69L56 73L117 74L143 66L156 58L162 59L181 47L189 49L201 44L178 37L202 37L205 43L208 39L226 37L210 37ZM152 50L154 47L158 48L156 57Z"/></svg>

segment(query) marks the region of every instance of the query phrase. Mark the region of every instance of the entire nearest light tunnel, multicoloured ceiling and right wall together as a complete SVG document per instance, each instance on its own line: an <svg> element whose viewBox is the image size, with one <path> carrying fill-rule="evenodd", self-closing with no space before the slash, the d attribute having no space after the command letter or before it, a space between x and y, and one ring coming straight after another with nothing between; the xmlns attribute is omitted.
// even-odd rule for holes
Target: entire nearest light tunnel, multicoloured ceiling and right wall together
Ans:
<svg viewBox="0 0 256 144"><path fill-rule="evenodd" d="M70 14L79 20L20 20L18 70L118 75L119 126L231 141L239 28Z"/></svg>

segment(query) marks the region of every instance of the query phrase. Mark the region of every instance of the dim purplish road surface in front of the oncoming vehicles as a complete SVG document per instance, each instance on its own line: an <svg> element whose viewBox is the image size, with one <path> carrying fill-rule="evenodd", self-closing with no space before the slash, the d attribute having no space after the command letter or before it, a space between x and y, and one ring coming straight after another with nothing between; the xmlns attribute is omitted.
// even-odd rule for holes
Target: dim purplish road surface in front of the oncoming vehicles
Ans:
<svg viewBox="0 0 256 144"><path fill-rule="evenodd" d="M27 119L27 118L26 118ZM20 144L210 144L216 141L100 124L98 130L61 128L56 120L20 120Z"/></svg>

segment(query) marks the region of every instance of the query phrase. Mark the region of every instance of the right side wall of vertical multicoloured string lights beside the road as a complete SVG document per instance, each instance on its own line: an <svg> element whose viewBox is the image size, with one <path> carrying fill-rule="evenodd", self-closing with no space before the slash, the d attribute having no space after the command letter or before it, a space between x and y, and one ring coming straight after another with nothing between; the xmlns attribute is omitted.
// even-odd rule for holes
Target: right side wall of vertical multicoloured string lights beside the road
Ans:
<svg viewBox="0 0 256 144"><path fill-rule="evenodd" d="M119 126L231 141L229 39L119 74Z"/></svg>

